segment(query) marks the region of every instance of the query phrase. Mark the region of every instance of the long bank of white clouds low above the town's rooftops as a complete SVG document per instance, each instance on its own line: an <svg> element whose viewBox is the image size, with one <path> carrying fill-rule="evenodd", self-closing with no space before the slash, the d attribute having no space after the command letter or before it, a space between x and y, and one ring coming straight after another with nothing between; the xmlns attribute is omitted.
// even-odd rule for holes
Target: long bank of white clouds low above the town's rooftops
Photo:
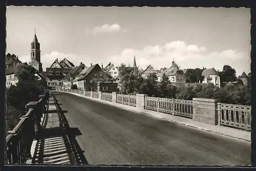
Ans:
<svg viewBox="0 0 256 171"><path fill-rule="evenodd" d="M172 61L175 59L176 63L181 69L187 68L212 68L216 70L222 70L224 65L230 65L236 69L238 75L243 71L250 72L250 57L243 52L237 52L236 50L225 50L222 52L208 52L205 47L199 47L197 45L186 45L184 41L172 41L160 46L145 46L142 49L124 49L120 54L112 56L104 56L102 58L90 56L87 54L65 54L61 52L53 51L50 54L44 54L41 56L42 67L45 71L47 67L50 67L53 61L58 58L62 60L67 58L74 65L78 66L80 62L83 62L86 66L90 66L90 63L101 62L105 65L111 61L116 66L121 63L126 65L133 65L133 57L136 57L136 63L139 68L145 69L146 66L152 65L155 69L162 67L169 68L172 66ZM19 57L23 62L29 61L29 56Z"/></svg>

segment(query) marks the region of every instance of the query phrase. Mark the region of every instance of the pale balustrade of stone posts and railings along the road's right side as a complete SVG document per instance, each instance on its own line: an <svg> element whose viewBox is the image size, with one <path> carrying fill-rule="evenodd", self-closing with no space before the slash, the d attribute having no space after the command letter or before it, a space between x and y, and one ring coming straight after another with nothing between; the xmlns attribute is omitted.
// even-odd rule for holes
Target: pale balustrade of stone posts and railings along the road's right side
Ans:
<svg viewBox="0 0 256 171"><path fill-rule="evenodd" d="M56 89L63 91L62 89ZM113 103L134 106L137 111L152 110L177 115L211 125L231 126L251 130L251 106L218 103L216 99L193 100L147 97L144 94L123 95L102 92L86 92L86 96Z"/></svg>

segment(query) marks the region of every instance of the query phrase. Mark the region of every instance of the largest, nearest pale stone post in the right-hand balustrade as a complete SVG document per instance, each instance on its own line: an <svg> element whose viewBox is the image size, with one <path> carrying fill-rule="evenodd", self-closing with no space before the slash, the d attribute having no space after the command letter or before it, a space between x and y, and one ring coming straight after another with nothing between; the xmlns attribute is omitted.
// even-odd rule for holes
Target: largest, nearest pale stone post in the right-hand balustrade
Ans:
<svg viewBox="0 0 256 171"><path fill-rule="evenodd" d="M193 98L193 120L217 125L217 99Z"/></svg>

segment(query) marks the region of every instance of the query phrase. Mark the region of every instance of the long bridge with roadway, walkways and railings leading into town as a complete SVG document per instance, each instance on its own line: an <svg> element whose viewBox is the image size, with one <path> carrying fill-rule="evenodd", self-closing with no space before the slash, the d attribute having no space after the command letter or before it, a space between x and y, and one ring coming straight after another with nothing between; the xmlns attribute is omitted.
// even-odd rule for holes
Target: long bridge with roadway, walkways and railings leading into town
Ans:
<svg viewBox="0 0 256 171"><path fill-rule="evenodd" d="M223 126L229 115L225 111L222 115L224 107L219 113L215 110L222 104L215 105L216 101L210 100L194 101L199 102L193 105L190 101L146 98L144 95L51 91L42 95L39 101L26 105L27 114L6 137L5 162L250 165L250 126ZM202 112L203 105L207 106L208 115ZM205 118L202 116L200 120L200 113L205 114ZM209 115L223 116L223 120ZM242 117L239 118L242 122ZM245 119L248 121L247 116ZM188 122L202 124L191 127ZM208 131L198 129L205 125ZM210 132L211 129L224 130L233 136L216 134ZM238 135L244 138L238 139Z"/></svg>

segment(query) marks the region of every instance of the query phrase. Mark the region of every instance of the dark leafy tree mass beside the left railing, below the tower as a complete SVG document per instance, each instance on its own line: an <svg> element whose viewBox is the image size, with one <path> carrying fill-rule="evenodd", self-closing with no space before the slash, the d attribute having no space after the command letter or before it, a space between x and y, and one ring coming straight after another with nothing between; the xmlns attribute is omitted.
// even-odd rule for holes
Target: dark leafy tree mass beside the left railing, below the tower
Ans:
<svg viewBox="0 0 256 171"><path fill-rule="evenodd" d="M45 81L38 81L35 73L36 70L32 66L20 64L16 68L18 82L6 91L8 129L14 127L19 117L25 114L25 105L30 101L37 101L45 89Z"/></svg>

